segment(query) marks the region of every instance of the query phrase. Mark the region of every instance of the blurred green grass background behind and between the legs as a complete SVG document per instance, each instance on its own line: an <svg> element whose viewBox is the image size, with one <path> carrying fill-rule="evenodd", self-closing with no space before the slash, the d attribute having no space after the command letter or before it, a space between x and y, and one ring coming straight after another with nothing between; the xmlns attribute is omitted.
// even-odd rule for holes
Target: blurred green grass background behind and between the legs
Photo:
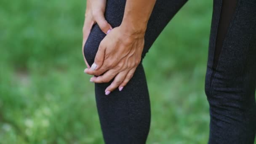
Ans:
<svg viewBox="0 0 256 144"><path fill-rule="evenodd" d="M0 1L0 143L103 143L94 85L83 73L85 0ZM148 144L205 144L204 78L212 1L190 0L143 60Z"/></svg>

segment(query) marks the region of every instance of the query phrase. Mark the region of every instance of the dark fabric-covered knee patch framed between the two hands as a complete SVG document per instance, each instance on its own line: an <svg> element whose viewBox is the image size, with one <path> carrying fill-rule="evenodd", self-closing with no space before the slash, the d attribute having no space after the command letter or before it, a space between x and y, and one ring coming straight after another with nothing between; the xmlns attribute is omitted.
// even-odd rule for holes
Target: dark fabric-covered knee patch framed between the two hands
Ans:
<svg viewBox="0 0 256 144"><path fill-rule="evenodd" d="M88 39L86 40L83 48L85 59L90 66L93 64L96 53L99 48L99 44L105 36L106 34L104 34L104 32L101 31L98 24L95 24L92 27L90 35L88 36Z"/></svg>

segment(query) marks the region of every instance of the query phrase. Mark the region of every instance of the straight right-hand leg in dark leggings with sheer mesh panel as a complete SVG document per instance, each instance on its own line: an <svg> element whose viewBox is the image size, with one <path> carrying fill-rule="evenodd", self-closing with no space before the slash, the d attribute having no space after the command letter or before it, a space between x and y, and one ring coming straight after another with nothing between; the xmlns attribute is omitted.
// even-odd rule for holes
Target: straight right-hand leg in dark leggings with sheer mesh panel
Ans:
<svg viewBox="0 0 256 144"><path fill-rule="evenodd" d="M205 93L209 144L253 144L256 0L214 0Z"/></svg>

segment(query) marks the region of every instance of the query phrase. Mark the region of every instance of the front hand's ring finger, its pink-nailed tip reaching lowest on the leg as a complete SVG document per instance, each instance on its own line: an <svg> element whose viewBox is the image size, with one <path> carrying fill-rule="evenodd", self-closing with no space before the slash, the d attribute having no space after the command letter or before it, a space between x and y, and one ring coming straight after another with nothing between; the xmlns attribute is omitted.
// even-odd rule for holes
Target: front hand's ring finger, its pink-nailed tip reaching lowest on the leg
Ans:
<svg viewBox="0 0 256 144"><path fill-rule="evenodd" d="M108 95L111 91L114 91L123 82L127 73L128 71L123 71L117 74L113 82L105 89L105 94Z"/></svg>

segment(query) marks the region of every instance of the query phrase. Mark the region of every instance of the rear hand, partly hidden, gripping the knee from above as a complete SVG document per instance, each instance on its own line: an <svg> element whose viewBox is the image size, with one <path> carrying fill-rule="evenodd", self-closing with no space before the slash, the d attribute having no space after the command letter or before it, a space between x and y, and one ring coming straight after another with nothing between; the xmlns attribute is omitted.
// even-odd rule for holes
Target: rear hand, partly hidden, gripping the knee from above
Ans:
<svg viewBox="0 0 256 144"><path fill-rule="evenodd" d="M82 53L85 60L85 64L90 68L88 62L85 59L83 48L85 42L91 32L93 24L97 23L101 28L102 32L107 34L112 29L111 25L104 18L104 12L106 8L106 0L87 0L86 11L85 11L85 22L83 26L83 45Z"/></svg>

